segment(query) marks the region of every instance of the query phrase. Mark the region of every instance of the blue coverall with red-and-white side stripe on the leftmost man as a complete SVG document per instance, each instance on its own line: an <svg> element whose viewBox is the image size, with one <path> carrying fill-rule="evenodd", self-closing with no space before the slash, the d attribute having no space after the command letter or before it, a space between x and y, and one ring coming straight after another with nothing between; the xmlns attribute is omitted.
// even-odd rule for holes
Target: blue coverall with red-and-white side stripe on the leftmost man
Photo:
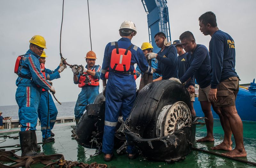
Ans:
<svg viewBox="0 0 256 168"><path fill-rule="evenodd" d="M19 67L18 74L32 77L32 80L22 77L18 77L16 80L18 88L15 99L19 106L20 131L36 130L37 109L41 90L44 88L48 91L51 88L51 84L44 79L40 71L39 57L31 50L28 50L26 55L20 60L22 67ZM37 87L36 84L41 87Z"/></svg>

